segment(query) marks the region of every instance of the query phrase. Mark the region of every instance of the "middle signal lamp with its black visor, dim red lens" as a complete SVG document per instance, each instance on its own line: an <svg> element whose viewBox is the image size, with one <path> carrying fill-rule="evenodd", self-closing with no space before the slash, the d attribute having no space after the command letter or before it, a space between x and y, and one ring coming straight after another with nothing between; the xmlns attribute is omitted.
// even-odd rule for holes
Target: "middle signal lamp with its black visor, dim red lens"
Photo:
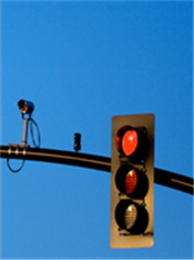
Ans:
<svg viewBox="0 0 194 260"><path fill-rule="evenodd" d="M149 190L149 180L144 171L123 164L115 174L115 184L121 193L133 199L143 199Z"/></svg>

